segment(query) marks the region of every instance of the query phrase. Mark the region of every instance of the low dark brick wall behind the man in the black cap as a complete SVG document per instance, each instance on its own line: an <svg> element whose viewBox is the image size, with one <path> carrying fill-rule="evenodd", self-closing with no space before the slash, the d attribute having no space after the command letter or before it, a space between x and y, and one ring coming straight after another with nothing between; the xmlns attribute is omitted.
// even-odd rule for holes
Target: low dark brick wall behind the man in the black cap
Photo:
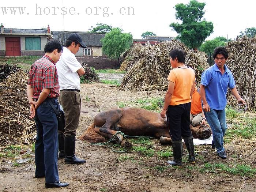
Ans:
<svg viewBox="0 0 256 192"><path fill-rule="evenodd" d="M117 59L110 59L106 56L102 57L76 57L82 63L87 64L87 67L94 67L95 69L116 69ZM121 57L120 57L121 62ZM120 66L119 66L120 67Z"/></svg>

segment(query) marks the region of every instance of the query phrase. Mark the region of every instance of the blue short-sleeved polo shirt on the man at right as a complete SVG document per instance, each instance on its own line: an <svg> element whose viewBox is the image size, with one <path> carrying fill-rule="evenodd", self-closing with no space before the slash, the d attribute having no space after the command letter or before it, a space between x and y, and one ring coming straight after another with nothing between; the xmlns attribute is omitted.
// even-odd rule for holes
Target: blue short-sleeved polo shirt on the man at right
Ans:
<svg viewBox="0 0 256 192"><path fill-rule="evenodd" d="M211 109L223 110L227 105L227 87L233 89L235 80L231 71L224 65L222 75L216 63L202 73L201 84L205 86L206 101Z"/></svg>

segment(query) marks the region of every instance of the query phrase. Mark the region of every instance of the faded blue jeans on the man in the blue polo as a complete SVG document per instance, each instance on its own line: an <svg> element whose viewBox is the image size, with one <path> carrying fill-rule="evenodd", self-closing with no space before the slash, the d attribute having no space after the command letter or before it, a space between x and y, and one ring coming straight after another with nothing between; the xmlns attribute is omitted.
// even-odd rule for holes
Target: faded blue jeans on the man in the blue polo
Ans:
<svg viewBox="0 0 256 192"><path fill-rule="evenodd" d="M211 112L204 112L204 115L208 121L208 124L211 127L213 142L215 147L217 148L217 153L221 153L225 150L225 148L223 147L223 136L225 135L227 129L225 109L210 110Z"/></svg>

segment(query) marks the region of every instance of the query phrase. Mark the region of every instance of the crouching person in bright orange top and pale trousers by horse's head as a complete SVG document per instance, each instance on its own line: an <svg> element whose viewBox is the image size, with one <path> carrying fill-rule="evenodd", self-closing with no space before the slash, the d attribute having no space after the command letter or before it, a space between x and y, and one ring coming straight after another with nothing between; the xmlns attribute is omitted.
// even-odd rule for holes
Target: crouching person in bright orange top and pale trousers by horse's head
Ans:
<svg viewBox="0 0 256 192"><path fill-rule="evenodd" d="M196 88L196 82L193 84L193 94L190 110L190 123L196 127L198 125L205 125L206 118L202 109L202 100L199 94L199 89Z"/></svg>

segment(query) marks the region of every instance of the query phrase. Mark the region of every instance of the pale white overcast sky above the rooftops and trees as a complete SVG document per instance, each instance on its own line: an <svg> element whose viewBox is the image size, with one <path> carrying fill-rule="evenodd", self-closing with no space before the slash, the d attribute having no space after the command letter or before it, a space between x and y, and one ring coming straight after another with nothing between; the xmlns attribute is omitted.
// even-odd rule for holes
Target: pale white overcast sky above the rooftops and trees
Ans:
<svg viewBox="0 0 256 192"><path fill-rule="evenodd" d="M256 27L254 0L198 0L206 3L204 17L214 24L214 31L207 39L224 36L234 39L249 27ZM176 37L169 27L175 18L174 6L188 4L189 0L9 0L0 1L0 23L5 28L41 29L50 26L53 31L89 31L96 23L120 27L131 33L133 39L152 31L157 36ZM8 7L23 7L11 13ZM6 12L5 12L6 11Z"/></svg>

